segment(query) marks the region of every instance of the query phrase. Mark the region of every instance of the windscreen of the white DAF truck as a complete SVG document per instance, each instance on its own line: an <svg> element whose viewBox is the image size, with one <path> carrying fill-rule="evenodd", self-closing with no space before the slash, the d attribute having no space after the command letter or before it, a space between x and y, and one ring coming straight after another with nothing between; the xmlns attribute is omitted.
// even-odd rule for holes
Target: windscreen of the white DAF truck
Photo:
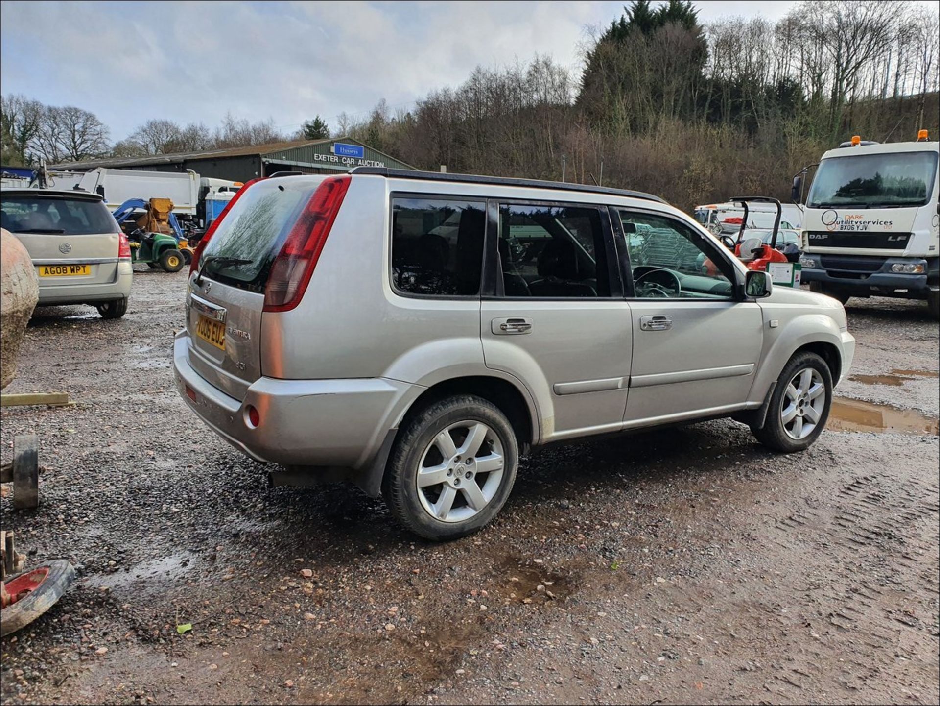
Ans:
<svg viewBox="0 0 940 706"><path fill-rule="evenodd" d="M937 153L890 152L824 159L809 190L807 206L892 208L923 206L936 183Z"/></svg>

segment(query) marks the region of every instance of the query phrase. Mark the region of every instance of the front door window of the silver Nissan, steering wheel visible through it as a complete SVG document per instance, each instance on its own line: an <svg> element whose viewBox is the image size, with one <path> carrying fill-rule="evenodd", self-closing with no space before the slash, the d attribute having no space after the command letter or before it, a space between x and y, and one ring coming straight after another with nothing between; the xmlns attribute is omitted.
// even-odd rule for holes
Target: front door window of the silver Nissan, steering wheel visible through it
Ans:
<svg viewBox="0 0 940 706"><path fill-rule="evenodd" d="M635 296L730 299L734 272L723 258L680 221L620 211L630 254Z"/></svg>

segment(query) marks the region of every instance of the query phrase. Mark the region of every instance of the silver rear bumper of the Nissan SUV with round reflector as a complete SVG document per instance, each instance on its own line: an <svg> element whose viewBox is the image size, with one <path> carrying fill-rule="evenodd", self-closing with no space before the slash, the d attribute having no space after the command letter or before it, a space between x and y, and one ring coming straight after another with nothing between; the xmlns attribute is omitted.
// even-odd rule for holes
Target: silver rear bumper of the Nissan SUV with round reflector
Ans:
<svg viewBox="0 0 940 706"><path fill-rule="evenodd" d="M244 400L237 400L193 369L189 345L187 331L180 331L173 342L180 396L212 431L260 462L366 468L424 389L385 378L261 377L249 385ZM248 405L258 410L258 427L248 420Z"/></svg>

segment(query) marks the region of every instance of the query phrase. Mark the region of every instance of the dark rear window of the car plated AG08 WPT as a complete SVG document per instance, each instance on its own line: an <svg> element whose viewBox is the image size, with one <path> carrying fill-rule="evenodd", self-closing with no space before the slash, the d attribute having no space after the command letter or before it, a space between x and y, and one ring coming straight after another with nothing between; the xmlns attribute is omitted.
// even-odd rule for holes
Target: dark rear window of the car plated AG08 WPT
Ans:
<svg viewBox="0 0 940 706"><path fill-rule="evenodd" d="M3 227L11 233L95 235L117 233L118 222L99 200L10 194L0 197Z"/></svg>

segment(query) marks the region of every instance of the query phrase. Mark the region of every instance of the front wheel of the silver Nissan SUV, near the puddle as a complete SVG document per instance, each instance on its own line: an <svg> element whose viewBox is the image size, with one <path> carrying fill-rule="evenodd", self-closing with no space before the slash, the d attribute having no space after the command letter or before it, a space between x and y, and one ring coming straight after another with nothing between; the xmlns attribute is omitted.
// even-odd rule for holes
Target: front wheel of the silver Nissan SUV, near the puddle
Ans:
<svg viewBox="0 0 940 706"><path fill-rule="evenodd" d="M751 427L751 431L775 451L802 451L823 433L832 389L832 373L823 358L797 353L776 379L763 427Z"/></svg>

